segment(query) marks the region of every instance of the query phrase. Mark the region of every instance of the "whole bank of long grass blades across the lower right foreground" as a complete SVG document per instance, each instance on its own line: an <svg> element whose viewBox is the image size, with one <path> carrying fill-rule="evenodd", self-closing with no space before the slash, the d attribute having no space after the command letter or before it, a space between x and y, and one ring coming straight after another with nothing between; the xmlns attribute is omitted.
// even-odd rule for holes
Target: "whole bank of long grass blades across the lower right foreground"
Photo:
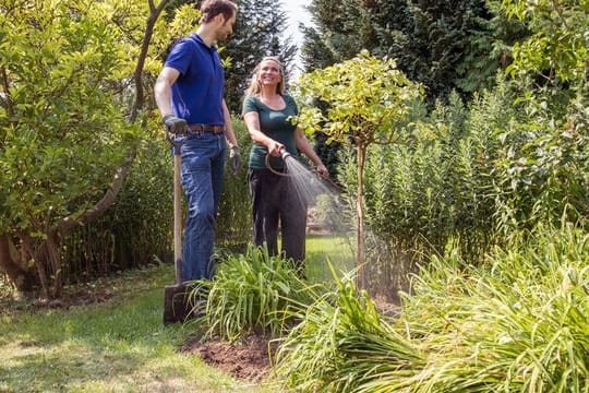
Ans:
<svg viewBox="0 0 589 393"><path fill-rule="evenodd" d="M585 231L539 227L480 267L450 247L394 320L339 284L286 338L280 376L316 392L585 392L588 245Z"/></svg>

